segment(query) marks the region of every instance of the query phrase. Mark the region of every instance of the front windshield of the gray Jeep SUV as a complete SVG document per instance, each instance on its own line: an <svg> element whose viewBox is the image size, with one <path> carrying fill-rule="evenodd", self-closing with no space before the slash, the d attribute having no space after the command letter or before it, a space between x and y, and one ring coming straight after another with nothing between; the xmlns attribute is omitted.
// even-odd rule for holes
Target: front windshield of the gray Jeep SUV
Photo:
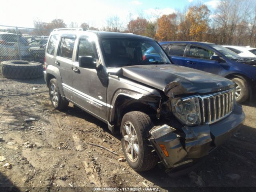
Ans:
<svg viewBox="0 0 256 192"><path fill-rule="evenodd" d="M103 38L101 46L107 67L171 64L168 56L153 40Z"/></svg>

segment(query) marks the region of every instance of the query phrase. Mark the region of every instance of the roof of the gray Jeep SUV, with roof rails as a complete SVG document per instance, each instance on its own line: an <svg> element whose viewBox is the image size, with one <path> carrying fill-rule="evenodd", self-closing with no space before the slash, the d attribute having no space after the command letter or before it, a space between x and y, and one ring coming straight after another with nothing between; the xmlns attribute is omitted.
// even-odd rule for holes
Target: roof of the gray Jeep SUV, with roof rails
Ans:
<svg viewBox="0 0 256 192"><path fill-rule="evenodd" d="M98 38L143 38L145 40L153 40L152 38L120 32L107 32L107 31L93 31L93 30L56 30L52 34L74 34L74 35L96 35Z"/></svg>

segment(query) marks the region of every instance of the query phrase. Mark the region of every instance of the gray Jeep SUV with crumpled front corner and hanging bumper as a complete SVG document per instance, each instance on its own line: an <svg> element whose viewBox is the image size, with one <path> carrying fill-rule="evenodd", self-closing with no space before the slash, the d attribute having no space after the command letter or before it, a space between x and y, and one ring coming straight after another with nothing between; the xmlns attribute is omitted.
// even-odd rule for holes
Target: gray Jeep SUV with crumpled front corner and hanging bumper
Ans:
<svg viewBox="0 0 256 192"><path fill-rule="evenodd" d="M145 58L148 49L159 60ZM157 162L167 172L196 164L245 118L232 81L172 64L144 36L57 29L45 65L54 108L72 102L120 132L124 156L136 171Z"/></svg>

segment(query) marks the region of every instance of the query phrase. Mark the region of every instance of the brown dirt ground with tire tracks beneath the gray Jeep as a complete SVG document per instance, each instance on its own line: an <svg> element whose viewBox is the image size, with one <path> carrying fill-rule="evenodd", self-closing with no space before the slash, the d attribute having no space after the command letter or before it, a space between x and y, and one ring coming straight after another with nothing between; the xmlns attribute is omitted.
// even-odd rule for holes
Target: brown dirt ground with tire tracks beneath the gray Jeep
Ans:
<svg viewBox="0 0 256 192"><path fill-rule="evenodd" d="M93 191L92 187L100 186L154 187L169 192L244 187L254 191L256 102L243 108L246 120L238 133L199 168L171 178L158 166L137 173L127 162L119 162L118 156L88 144L122 155L120 136L110 134L104 123L72 104L68 110L54 110L43 78L0 76L0 191ZM36 120L25 122L27 118ZM6 163L11 164L10 169L4 168Z"/></svg>

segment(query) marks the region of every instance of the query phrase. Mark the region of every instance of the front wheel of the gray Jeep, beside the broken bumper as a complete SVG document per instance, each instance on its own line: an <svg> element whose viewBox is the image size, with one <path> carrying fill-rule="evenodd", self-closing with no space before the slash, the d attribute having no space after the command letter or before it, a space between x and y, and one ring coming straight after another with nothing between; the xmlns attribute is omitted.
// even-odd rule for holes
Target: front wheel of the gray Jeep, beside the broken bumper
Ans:
<svg viewBox="0 0 256 192"><path fill-rule="evenodd" d="M150 117L139 111L128 112L121 123L122 149L124 156L135 171L150 170L156 165L158 157L152 153L148 144L149 130L154 124Z"/></svg>

